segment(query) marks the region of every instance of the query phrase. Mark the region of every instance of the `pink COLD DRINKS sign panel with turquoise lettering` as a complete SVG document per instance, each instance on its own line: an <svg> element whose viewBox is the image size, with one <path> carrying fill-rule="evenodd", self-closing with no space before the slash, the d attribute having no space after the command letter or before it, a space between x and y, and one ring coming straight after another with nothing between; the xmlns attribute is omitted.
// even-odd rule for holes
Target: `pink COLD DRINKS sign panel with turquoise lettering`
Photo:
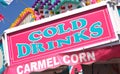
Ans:
<svg viewBox="0 0 120 74"><path fill-rule="evenodd" d="M9 64L22 64L47 55L116 41L117 35L108 13L107 7L101 6L7 33Z"/></svg>

